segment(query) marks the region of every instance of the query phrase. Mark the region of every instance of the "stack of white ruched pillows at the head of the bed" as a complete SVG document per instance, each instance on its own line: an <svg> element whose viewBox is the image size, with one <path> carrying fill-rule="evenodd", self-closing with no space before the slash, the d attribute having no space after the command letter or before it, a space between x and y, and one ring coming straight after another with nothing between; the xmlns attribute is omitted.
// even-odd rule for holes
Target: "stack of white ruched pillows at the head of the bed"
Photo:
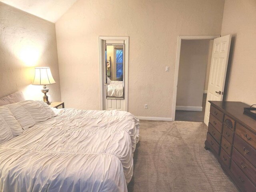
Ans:
<svg viewBox="0 0 256 192"><path fill-rule="evenodd" d="M0 144L16 137L38 122L56 116L54 111L41 101L26 100L0 107Z"/></svg>

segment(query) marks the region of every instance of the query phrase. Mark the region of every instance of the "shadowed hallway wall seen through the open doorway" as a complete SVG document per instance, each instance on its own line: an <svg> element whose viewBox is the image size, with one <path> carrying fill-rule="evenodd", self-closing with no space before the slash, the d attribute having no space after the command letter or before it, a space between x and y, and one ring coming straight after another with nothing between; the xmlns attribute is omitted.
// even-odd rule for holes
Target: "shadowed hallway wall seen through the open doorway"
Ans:
<svg viewBox="0 0 256 192"><path fill-rule="evenodd" d="M182 40L176 106L202 107L210 40Z"/></svg>

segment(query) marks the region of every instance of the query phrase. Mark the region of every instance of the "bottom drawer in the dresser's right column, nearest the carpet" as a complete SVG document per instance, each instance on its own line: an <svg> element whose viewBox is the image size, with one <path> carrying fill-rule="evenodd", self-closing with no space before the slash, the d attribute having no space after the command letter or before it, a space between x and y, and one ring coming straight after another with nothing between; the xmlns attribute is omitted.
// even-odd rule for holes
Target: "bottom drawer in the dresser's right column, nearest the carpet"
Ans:
<svg viewBox="0 0 256 192"><path fill-rule="evenodd" d="M231 162L230 170L235 177L235 180L240 186L240 188L244 189L246 192L255 192L256 187L252 184L252 182L248 179L248 177L240 170L240 168L234 163Z"/></svg>

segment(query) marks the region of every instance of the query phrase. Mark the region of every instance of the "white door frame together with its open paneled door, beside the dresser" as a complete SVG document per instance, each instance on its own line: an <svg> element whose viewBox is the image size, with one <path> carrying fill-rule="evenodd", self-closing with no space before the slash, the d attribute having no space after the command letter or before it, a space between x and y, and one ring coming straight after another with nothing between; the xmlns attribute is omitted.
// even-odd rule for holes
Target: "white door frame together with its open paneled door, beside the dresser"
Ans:
<svg viewBox="0 0 256 192"><path fill-rule="evenodd" d="M198 39L214 39L212 48L212 58L210 64L210 76L207 88L206 101L222 101L224 86L226 80L226 72L228 67L228 56L230 51L230 43L232 36L230 34L219 36L178 36L177 60L174 81L174 97L172 107L172 120L175 120L178 72L180 64L180 52L182 40L198 40ZM194 91L194 90L193 90ZM204 123L208 125L210 118L210 103L206 102Z"/></svg>

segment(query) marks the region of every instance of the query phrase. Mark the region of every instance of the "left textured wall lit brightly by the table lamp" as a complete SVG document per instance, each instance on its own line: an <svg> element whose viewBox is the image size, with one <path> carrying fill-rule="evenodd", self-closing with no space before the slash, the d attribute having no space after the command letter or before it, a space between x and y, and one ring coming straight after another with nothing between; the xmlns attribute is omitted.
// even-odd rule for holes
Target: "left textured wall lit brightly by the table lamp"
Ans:
<svg viewBox="0 0 256 192"><path fill-rule="evenodd" d="M49 66L56 84L52 100L60 100L55 25L0 3L0 97L21 90L27 99L42 100L42 86L30 85L35 66Z"/></svg>

